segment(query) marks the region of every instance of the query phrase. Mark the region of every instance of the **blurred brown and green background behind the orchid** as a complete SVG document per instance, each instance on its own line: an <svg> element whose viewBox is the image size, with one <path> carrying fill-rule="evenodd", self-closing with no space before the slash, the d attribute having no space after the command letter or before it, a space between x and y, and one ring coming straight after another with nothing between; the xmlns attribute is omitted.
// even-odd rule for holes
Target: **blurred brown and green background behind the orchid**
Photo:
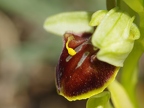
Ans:
<svg viewBox="0 0 144 108"><path fill-rule="evenodd" d="M85 108L55 88L62 37L43 29L47 17L68 11L106 9L105 0L0 0L0 108ZM137 97L144 108L144 57Z"/></svg>

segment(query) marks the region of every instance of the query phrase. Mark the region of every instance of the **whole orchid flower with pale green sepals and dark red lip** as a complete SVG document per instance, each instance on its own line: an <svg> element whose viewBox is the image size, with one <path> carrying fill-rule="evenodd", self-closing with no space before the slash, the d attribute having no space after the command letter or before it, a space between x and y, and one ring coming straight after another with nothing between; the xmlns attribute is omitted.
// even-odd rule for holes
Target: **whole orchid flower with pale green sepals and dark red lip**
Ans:
<svg viewBox="0 0 144 108"><path fill-rule="evenodd" d="M69 101L103 96L101 93L109 97L104 90L113 91L114 85L128 100L123 87L114 80L135 40L140 38L134 19L118 8L67 12L46 19L45 30L63 36L63 50L56 66L58 93ZM126 102L131 106L130 101Z"/></svg>

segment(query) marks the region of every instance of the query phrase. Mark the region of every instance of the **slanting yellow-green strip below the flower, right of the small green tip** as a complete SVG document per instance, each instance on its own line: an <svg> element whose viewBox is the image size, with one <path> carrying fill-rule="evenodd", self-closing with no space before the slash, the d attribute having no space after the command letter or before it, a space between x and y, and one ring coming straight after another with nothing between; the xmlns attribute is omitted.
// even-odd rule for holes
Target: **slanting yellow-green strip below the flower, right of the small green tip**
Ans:
<svg viewBox="0 0 144 108"><path fill-rule="evenodd" d="M134 108L127 92L116 80L108 86L108 89L111 92L111 99L115 108Z"/></svg>

